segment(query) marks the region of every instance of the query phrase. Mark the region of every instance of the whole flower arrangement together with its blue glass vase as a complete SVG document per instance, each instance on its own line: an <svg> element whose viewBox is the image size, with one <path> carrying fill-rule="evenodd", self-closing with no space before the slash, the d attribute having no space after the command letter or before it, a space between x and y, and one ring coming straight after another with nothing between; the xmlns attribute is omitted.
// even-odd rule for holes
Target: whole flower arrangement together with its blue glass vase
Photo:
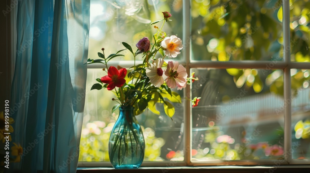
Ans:
<svg viewBox="0 0 310 173"><path fill-rule="evenodd" d="M101 79L97 78L99 83L94 84L91 90L107 88L115 94L117 98L112 100L117 104L112 108L112 112L121 106L108 144L110 162L115 168L138 168L143 161L144 136L135 115L141 114L146 108L159 115L155 105L162 103L166 115L172 118L175 108L170 102L181 103L181 97L171 89L177 87L181 90L191 81L198 80L194 78L194 74L188 77L186 69L179 62L164 61L165 57L177 57L183 49L183 44L177 36L167 36L162 31L164 24L170 21L171 17L167 11L162 13L162 20L151 23L153 25L163 22L161 28L154 26L156 32L153 35L153 43L148 37L144 37L136 44L136 51L133 51L129 44L122 42L126 49L106 57L102 48L103 53L98 53L101 59L87 60L88 64L103 63L106 66L103 70L108 74ZM108 62L114 57L124 56L119 54L124 50L132 53L134 66L129 69L108 67ZM136 64L138 55L142 55L142 64ZM195 97L191 100L193 106L197 106L199 99Z"/></svg>

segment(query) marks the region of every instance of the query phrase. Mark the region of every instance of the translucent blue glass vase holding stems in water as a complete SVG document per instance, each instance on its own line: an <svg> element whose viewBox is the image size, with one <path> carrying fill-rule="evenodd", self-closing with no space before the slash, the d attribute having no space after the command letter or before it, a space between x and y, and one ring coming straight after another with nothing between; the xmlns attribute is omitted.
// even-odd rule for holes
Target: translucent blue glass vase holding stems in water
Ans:
<svg viewBox="0 0 310 173"><path fill-rule="evenodd" d="M111 132L108 151L110 162L116 169L139 168L144 159L144 137L134 109L121 106Z"/></svg>

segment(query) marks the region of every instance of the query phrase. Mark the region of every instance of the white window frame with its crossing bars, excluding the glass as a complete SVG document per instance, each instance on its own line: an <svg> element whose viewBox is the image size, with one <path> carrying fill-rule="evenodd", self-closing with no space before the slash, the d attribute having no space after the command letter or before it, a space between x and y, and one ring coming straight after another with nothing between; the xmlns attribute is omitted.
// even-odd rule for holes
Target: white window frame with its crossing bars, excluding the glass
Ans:
<svg viewBox="0 0 310 173"><path fill-rule="evenodd" d="M195 61L191 60L191 28L190 28L190 0L183 0L183 55L185 61L181 64L185 65L186 70L190 72L191 68L212 68L212 69L281 69L284 71L284 103L291 97L291 75L290 69L310 69L310 62L292 62L290 61L290 1L282 0L283 9L283 61ZM184 44L185 45L185 44ZM269 65L272 63L273 67ZM110 65L122 67L130 67L133 62L112 62ZM101 65L90 64L87 68L103 68ZM186 87L184 95L191 93L191 88ZM191 93L192 97L192 93ZM281 165L291 164L309 164L310 159L292 159L292 134L291 134L291 102L286 102L284 107L284 159L268 159L268 160L216 160L216 161L193 161L192 154L192 106L189 100L184 103L184 161L162 161L150 162L144 161L141 166L209 166L209 165L275 165L280 162ZM187 116L189 115L189 116ZM78 162L78 167L107 167L112 166L110 162Z"/></svg>

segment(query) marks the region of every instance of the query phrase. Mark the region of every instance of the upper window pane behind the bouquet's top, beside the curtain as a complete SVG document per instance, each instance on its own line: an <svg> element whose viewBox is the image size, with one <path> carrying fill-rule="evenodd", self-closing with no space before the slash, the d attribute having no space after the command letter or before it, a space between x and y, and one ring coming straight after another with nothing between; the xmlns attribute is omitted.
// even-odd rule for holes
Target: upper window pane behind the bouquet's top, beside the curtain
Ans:
<svg viewBox="0 0 310 173"><path fill-rule="evenodd" d="M88 57L92 59L98 57L97 52L101 52L101 48L105 49L107 55L116 53L125 49L122 42L130 44L135 51L137 49L135 44L143 37L148 37L152 41L156 29L150 23L162 19L162 11L169 11L172 14L169 18L172 21L165 23L162 31L182 39L182 1L91 0ZM161 27L162 22L155 25ZM116 57L113 60L134 59L128 50L123 54L125 57ZM138 60L142 60L139 58ZM182 54L177 57L182 58Z"/></svg>

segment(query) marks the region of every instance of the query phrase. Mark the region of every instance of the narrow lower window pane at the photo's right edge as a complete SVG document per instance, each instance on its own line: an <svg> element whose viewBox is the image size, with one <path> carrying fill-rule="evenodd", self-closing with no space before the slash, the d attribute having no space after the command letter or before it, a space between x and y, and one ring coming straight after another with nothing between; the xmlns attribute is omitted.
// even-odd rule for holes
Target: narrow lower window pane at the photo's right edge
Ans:
<svg viewBox="0 0 310 173"><path fill-rule="evenodd" d="M310 158L310 70L291 69L292 158Z"/></svg>

